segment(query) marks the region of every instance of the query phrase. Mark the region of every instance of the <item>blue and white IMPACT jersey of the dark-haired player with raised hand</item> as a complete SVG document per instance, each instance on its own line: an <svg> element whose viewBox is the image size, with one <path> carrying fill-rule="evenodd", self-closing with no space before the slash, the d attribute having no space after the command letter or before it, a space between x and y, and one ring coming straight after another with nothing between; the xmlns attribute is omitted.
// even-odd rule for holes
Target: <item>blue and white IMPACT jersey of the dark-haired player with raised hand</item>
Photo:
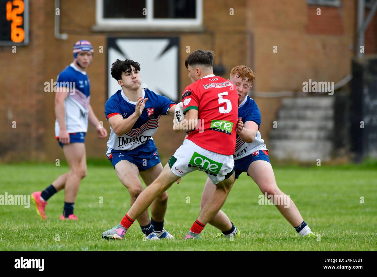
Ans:
<svg viewBox="0 0 377 277"><path fill-rule="evenodd" d="M132 126L132 128L122 136L116 135L111 129L109 141L107 141L107 153L109 157L111 153L120 150L131 151L136 147L145 144L156 133L158 121L161 115L167 115L167 111L175 103L169 98L158 95L152 90L145 88L142 95L148 98L141 116ZM114 115L122 115L124 119L128 118L135 112L136 102L129 101L122 90L118 90L112 95L105 105L105 115L107 120Z"/></svg>

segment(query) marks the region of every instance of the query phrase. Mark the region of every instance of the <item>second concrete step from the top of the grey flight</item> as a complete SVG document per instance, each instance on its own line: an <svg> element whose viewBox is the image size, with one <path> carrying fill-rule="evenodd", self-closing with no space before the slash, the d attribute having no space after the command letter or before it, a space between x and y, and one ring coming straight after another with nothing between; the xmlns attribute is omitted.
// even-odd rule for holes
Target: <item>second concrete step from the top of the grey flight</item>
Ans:
<svg viewBox="0 0 377 277"><path fill-rule="evenodd" d="M312 119L323 120L332 119L334 116L333 109L280 109L277 113L279 119Z"/></svg>

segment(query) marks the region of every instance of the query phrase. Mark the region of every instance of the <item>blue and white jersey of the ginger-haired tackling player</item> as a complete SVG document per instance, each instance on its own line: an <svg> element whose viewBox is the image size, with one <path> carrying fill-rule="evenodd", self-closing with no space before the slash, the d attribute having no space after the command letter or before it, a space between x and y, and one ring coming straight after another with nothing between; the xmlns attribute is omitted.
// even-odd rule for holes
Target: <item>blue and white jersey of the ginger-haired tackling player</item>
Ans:
<svg viewBox="0 0 377 277"><path fill-rule="evenodd" d="M249 96L246 96L244 101L238 106L238 118L241 118L244 124L246 121L254 121L258 126L261 124L261 112L259 112L259 108L255 101ZM251 143L244 142L239 135L237 135L236 149L233 158L235 160L241 159L257 150L267 150L259 131L257 131L254 141Z"/></svg>

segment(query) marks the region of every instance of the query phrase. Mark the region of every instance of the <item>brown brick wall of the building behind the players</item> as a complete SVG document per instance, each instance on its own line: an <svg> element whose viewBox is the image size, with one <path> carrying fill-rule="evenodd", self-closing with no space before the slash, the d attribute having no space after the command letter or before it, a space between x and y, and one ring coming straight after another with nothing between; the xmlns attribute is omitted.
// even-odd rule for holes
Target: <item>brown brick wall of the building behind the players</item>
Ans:
<svg viewBox="0 0 377 277"><path fill-rule="evenodd" d="M0 47L0 161L49 161L63 158L54 139L54 93L44 92L44 82L72 62L72 45L80 39L92 42L95 53L87 70L91 82L91 105L105 127L107 36L178 36L180 38L180 87L190 83L184 68L186 46L216 52L215 64L224 64L228 78L232 67L245 64L256 73L253 89L258 92L301 91L309 79L334 81L350 73L354 51L356 2L343 1L342 7L307 5L302 0L204 0L204 31L198 32L95 32L94 0L61 0L61 33L68 40L54 37L54 1L30 1L30 44ZM73 8L74 7L74 8ZM233 9L234 15L230 15ZM376 19L366 32L366 53L376 52ZM273 53L277 46L277 53ZM143 77L143 75L142 75ZM256 98L262 113L261 133L267 142L268 131L276 119L280 98ZM161 118L154 136L159 153L169 158L183 137L171 130L169 116ZM17 128L12 129L12 121ZM169 138L169 139L167 139ZM98 140L92 126L86 138L87 156L105 158L106 139Z"/></svg>

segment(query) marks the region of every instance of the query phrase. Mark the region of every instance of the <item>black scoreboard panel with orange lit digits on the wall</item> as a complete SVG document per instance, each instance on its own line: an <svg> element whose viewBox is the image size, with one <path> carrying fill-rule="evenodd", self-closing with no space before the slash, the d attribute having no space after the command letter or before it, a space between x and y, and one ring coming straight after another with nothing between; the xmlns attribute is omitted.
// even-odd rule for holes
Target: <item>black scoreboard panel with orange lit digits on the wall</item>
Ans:
<svg viewBox="0 0 377 277"><path fill-rule="evenodd" d="M29 43L29 0L0 0L0 45Z"/></svg>

